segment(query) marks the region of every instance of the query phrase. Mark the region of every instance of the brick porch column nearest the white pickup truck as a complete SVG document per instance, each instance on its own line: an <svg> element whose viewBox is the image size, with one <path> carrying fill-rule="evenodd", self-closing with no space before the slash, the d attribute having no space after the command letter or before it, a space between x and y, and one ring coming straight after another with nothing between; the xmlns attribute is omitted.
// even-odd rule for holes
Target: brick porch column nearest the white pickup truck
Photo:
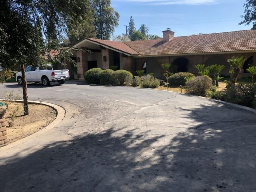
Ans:
<svg viewBox="0 0 256 192"><path fill-rule="evenodd" d="M79 75L79 79L84 79L83 75L88 70L88 61L87 61L86 48L82 47L81 49L82 50L77 52L76 54L77 74Z"/></svg>

